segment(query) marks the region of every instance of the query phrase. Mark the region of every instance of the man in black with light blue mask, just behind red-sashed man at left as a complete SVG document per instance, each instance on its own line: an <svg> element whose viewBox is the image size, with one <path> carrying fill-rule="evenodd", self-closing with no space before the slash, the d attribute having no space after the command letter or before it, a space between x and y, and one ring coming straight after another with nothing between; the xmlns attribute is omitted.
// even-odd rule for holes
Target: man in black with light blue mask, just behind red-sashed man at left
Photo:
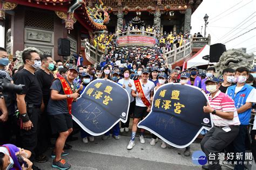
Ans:
<svg viewBox="0 0 256 170"><path fill-rule="evenodd" d="M39 135L38 135L38 144L36 147L36 158L37 162L46 162L48 158L43 155L43 153L47 150L48 144L50 144L51 130L50 123L47 118L46 108L48 105L48 101L50 99L50 87L51 83L54 79L52 73L50 72L54 68L53 60L50 55L42 55L41 56L42 66L39 68L35 76L39 82L39 87L43 92L43 101L41 111L41 118L39 121Z"/></svg>

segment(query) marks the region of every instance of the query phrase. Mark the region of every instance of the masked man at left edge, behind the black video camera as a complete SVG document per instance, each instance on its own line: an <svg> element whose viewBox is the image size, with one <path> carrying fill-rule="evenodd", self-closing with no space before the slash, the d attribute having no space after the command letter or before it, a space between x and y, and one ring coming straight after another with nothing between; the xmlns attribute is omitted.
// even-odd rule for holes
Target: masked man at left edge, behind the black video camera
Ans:
<svg viewBox="0 0 256 170"><path fill-rule="evenodd" d="M0 47L0 81L13 83L10 75L4 70L4 67L7 66L8 63L9 59L6 49ZM0 145L2 145L10 143L11 122L13 122L10 115L14 114L15 110L14 101L12 100L13 91L4 90L2 92L0 90L0 96L4 96L4 98L0 98ZM9 129L9 131L5 129Z"/></svg>

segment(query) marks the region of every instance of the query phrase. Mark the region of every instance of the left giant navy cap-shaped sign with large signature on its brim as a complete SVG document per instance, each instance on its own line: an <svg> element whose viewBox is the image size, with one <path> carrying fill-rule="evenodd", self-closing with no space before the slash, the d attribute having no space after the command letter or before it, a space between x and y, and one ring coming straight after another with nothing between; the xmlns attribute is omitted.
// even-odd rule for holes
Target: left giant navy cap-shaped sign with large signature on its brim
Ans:
<svg viewBox="0 0 256 170"><path fill-rule="evenodd" d="M130 107L127 91L118 83L97 79L72 104L73 120L86 132L99 136L119 121L126 122Z"/></svg>

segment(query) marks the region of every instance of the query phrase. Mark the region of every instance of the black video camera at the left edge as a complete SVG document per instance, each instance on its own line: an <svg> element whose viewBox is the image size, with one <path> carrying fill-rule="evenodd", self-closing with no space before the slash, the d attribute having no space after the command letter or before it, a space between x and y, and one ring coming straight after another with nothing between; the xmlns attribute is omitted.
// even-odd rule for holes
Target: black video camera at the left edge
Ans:
<svg viewBox="0 0 256 170"><path fill-rule="evenodd" d="M8 91L8 92L20 93L23 90L23 87L25 85L23 84L16 85L16 84L8 83L6 77L7 77L7 73L0 70L0 92Z"/></svg>

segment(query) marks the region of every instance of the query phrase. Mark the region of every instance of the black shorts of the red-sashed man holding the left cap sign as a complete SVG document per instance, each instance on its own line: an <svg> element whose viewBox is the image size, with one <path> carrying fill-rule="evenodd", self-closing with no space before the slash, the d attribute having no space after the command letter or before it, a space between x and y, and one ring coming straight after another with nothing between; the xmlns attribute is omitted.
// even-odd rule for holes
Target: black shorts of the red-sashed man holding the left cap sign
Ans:
<svg viewBox="0 0 256 170"><path fill-rule="evenodd" d="M50 115L52 133L66 132L73 127L72 116L67 114Z"/></svg>

